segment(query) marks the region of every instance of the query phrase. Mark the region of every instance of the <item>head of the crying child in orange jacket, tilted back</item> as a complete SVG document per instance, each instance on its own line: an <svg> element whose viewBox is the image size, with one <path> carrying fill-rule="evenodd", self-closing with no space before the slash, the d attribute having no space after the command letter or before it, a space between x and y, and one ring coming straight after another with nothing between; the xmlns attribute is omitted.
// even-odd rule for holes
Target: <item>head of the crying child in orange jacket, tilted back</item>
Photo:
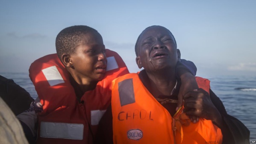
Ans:
<svg viewBox="0 0 256 144"><path fill-rule="evenodd" d="M139 35L135 44L136 63L147 73L166 71L175 76L180 52L172 33L163 26L150 26ZM171 73L170 73L171 72Z"/></svg>

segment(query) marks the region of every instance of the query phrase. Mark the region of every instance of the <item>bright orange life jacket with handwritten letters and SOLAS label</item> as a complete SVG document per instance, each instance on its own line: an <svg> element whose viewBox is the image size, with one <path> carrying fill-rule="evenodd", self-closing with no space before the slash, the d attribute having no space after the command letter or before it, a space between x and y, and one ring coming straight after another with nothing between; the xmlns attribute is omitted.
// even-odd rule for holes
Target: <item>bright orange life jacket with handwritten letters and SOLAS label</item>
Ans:
<svg viewBox="0 0 256 144"><path fill-rule="evenodd" d="M209 80L196 77L209 93ZM221 129L212 120L192 123L182 110L172 117L139 79L138 73L112 82L114 144L221 144Z"/></svg>

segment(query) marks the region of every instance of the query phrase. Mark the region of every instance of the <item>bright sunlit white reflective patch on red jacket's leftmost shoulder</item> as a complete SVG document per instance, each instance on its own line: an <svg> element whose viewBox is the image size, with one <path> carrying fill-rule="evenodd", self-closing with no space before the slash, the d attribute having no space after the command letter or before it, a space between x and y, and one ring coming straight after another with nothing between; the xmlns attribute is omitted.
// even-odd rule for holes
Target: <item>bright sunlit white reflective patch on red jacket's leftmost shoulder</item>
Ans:
<svg viewBox="0 0 256 144"><path fill-rule="evenodd" d="M60 75L55 65L49 68L43 69L42 72L44 73L44 76L49 82L50 86L64 83L64 80L62 79L62 76Z"/></svg>

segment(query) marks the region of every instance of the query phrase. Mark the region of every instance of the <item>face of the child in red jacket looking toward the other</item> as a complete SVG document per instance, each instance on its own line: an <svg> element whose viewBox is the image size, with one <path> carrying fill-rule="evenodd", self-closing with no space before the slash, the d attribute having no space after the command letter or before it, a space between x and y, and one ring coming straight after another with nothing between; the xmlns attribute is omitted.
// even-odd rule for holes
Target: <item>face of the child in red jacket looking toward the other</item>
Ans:
<svg viewBox="0 0 256 144"><path fill-rule="evenodd" d="M99 33L89 32L71 54L75 75L88 81L102 80L106 73L105 45Z"/></svg>

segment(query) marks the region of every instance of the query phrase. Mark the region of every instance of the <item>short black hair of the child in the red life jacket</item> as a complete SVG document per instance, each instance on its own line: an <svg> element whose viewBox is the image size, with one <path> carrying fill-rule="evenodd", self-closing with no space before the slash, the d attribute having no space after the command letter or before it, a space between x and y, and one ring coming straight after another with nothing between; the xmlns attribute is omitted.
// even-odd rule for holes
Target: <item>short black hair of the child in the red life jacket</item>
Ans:
<svg viewBox="0 0 256 144"><path fill-rule="evenodd" d="M89 26L70 26L62 31L56 37L56 52L61 60L63 53L72 54L75 52L75 48L81 43L83 36L88 32L99 33L96 29ZM62 60L61 60L62 61Z"/></svg>

